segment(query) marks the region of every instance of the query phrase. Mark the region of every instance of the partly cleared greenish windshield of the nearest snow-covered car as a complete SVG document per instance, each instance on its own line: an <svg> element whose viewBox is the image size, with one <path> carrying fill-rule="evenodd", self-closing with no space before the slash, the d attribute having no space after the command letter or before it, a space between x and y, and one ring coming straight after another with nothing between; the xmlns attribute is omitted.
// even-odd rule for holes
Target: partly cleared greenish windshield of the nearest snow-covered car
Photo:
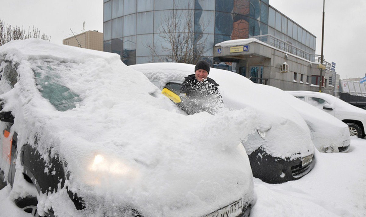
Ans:
<svg viewBox="0 0 366 217"><path fill-rule="evenodd" d="M62 82L62 72L70 71L71 63L52 60L33 62L32 70L38 90L58 111L74 109L75 103L81 102L79 95Z"/></svg>

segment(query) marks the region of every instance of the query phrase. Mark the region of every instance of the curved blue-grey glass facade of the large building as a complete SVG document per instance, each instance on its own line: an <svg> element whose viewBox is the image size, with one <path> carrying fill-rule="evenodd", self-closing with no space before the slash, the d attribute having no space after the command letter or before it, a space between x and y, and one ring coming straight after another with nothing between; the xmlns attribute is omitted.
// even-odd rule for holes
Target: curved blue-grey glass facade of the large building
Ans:
<svg viewBox="0 0 366 217"><path fill-rule="evenodd" d="M169 61L162 39L164 18L192 13L195 42L206 40L204 56L213 63L216 43L270 34L309 53L316 38L269 5L269 0L104 0L104 51L126 65ZM184 28L178 28L184 31ZM153 49L150 49L153 47Z"/></svg>

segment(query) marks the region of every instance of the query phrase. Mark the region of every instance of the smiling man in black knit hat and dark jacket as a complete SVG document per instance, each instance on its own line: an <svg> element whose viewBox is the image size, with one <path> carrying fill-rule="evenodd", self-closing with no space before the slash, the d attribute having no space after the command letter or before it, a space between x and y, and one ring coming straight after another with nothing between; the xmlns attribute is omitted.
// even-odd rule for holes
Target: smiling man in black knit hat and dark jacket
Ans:
<svg viewBox="0 0 366 217"><path fill-rule="evenodd" d="M219 93L219 84L207 77L210 73L210 64L204 60L198 61L193 75L188 75L180 93L186 94L186 98L180 103L180 107L187 114L207 111L214 114L222 106L223 100Z"/></svg>

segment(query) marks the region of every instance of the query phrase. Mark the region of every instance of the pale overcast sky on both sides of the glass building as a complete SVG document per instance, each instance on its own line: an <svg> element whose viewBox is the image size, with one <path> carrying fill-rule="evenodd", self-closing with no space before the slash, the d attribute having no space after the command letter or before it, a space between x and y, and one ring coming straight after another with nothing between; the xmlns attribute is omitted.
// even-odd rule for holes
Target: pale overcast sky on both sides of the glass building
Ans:
<svg viewBox="0 0 366 217"><path fill-rule="evenodd" d="M269 0L269 4L317 37L321 54L322 0ZM103 0L0 0L0 19L38 27L51 42L85 30L103 31ZM324 58L336 63L341 79L366 73L366 0L326 0Z"/></svg>

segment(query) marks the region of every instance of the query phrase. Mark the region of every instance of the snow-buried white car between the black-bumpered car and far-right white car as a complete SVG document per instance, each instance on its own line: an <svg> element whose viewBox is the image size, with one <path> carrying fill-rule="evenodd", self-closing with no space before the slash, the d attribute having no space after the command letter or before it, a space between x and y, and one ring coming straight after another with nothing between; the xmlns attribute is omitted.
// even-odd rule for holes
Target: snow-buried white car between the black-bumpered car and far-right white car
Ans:
<svg viewBox="0 0 366 217"><path fill-rule="evenodd" d="M282 99L293 107L305 120L311 139L320 152L348 152L351 137L346 123L309 105L287 92L269 85L257 84L273 97Z"/></svg>

